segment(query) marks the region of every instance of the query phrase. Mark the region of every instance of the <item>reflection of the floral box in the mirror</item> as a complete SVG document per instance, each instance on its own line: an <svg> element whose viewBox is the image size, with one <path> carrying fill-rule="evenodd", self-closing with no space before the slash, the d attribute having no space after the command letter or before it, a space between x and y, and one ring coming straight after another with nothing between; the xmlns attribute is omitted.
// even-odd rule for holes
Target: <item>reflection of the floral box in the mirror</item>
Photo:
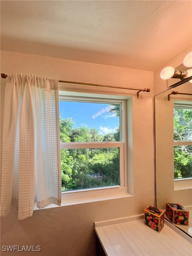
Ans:
<svg viewBox="0 0 192 256"><path fill-rule="evenodd" d="M176 225L189 226L189 211L180 204L166 203L166 215Z"/></svg>

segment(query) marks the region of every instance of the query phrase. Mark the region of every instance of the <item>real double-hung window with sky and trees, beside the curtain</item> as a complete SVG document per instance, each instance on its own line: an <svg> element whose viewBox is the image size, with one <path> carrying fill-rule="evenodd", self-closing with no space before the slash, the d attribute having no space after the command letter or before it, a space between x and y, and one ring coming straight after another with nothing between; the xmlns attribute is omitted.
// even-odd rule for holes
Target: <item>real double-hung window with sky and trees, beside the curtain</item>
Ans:
<svg viewBox="0 0 192 256"><path fill-rule="evenodd" d="M60 96L59 114L65 198L71 192L125 188L126 101Z"/></svg>

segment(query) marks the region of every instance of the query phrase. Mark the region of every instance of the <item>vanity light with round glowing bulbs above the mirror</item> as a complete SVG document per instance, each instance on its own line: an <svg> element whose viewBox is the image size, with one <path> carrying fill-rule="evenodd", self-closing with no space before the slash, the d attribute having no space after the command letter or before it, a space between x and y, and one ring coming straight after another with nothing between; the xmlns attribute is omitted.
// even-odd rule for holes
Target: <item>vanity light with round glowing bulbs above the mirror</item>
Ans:
<svg viewBox="0 0 192 256"><path fill-rule="evenodd" d="M192 52L189 52L184 60L183 60L183 64L186 67L192 67ZM166 67L164 69L162 69L161 73L160 73L160 77L164 80L170 79L170 78L177 78L177 79L185 79L192 76L192 69L188 69L188 70L176 70L173 67L169 66ZM192 83L192 80L189 81L190 83Z"/></svg>

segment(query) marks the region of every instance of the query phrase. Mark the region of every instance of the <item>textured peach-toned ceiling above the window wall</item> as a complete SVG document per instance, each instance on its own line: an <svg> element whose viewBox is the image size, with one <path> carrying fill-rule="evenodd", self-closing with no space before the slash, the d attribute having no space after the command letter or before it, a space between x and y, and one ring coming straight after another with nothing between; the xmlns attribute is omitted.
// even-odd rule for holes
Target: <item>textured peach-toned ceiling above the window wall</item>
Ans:
<svg viewBox="0 0 192 256"><path fill-rule="evenodd" d="M4 51L155 71L191 44L191 0L1 0Z"/></svg>

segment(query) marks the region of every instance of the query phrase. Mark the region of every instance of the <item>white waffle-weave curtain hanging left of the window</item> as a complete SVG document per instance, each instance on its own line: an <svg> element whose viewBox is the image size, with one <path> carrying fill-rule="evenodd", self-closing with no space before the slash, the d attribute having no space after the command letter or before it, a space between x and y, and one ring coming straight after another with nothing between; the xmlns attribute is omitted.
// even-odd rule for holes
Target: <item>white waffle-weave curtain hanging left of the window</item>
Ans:
<svg viewBox="0 0 192 256"><path fill-rule="evenodd" d="M8 75L4 111L1 216L16 199L21 220L61 204L58 80Z"/></svg>

